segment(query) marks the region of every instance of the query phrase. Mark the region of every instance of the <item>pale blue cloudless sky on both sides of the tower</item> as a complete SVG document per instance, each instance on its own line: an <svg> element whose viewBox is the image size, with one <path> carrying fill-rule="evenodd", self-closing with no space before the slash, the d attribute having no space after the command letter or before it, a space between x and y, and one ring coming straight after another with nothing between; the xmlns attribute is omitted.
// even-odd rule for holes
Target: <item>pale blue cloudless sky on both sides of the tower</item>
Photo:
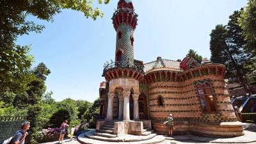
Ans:
<svg viewBox="0 0 256 144"><path fill-rule="evenodd" d="M97 1L94 1L94 3ZM115 58L116 33L111 17L117 0L100 5L104 18L86 19L81 12L63 10L54 22L45 22L42 33L21 36L17 43L31 45L33 67L44 62L51 70L47 92L57 101L65 98L93 100L99 97L103 65ZM210 58L210 33L217 24L227 24L228 16L246 5L246 0L137 0L138 13L134 33L134 58L144 63L184 58L194 49Z"/></svg>

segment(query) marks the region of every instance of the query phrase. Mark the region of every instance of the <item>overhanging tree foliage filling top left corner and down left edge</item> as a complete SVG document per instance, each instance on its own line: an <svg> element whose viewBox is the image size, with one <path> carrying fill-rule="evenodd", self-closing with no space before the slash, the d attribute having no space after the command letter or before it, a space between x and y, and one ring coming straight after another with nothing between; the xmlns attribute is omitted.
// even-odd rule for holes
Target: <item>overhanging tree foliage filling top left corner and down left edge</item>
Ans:
<svg viewBox="0 0 256 144"><path fill-rule="evenodd" d="M109 0L104 0L109 3ZM99 0L102 4L102 0ZM62 8L83 12L85 17L93 20L103 13L93 8L92 1L84 0L40 0L40 1L9 1L0 2L0 93L18 94L28 90L28 83L33 81L29 72L33 56L29 54L29 46L16 45L18 36L29 32L40 33L44 26L26 19L28 15L40 20L53 21L53 16ZM2 95L2 94L0 94Z"/></svg>

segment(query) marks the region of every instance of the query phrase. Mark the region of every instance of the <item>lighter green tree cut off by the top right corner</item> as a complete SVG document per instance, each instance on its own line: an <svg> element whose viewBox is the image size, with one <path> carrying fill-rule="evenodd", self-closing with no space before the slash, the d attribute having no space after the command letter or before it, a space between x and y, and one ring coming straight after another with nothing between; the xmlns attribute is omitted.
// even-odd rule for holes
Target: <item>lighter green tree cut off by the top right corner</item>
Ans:
<svg viewBox="0 0 256 144"><path fill-rule="evenodd" d="M256 56L256 0L248 0L238 22L247 41L246 50Z"/></svg>

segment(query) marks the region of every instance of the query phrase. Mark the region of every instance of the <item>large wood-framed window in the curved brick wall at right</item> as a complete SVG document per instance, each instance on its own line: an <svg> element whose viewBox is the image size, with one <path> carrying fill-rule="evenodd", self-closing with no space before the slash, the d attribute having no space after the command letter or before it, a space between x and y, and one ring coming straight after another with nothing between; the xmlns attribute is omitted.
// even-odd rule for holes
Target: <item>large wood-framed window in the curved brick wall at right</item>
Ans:
<svg viewBox="0 0 256 144"><path fill-rule="evenodd" d="M204 81L203 83L196 83L196 89L200 99L202 111L204 113L216 113L217 109L214 95L212 93L211 83L208 81Z"/></svg>

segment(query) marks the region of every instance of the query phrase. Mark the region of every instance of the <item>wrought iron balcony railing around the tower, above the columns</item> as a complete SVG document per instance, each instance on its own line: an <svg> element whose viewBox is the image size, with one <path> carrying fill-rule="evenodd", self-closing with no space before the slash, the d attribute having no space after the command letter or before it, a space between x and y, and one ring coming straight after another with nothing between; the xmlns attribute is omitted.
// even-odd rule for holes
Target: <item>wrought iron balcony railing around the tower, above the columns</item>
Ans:
<svg viewBox="0 0 256 144"><path fill-rule="evenodd" d="M103 70L102 77L105 76L108 70L111 70L113 68L130 68L132 70L138 70L139 72L144 74L144 70L143 70L144 66L139 63L122 62L122 61L115 62L111 60L110 63L107 61L103 67L104 67L104 70Z"/></svg>

